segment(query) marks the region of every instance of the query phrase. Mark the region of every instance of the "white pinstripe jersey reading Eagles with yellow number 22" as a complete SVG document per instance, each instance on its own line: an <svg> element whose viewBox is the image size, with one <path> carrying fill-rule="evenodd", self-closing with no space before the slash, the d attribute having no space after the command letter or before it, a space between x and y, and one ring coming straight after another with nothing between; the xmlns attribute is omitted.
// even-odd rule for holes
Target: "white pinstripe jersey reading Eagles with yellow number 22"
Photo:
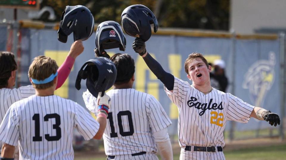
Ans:
<svg viewBox="0 0 286 160"><path fill-rule="evenodd" d="M178 138L181 147L223 147L226 121L247 123L254 108L238 97L214 88L205 95L193 85L176 77L172 93L166 87L164 89L170 100L178 107Z"/></svg>

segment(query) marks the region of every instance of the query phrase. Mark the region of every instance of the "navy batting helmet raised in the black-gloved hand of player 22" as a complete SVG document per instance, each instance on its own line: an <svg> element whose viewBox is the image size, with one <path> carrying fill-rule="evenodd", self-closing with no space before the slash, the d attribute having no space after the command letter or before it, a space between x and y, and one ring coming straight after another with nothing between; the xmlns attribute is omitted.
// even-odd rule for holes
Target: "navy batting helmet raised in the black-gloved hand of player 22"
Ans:
<svg viewBox="0 0 286 160"><path fill-rule="evenodd" d="M121 14L123 30L133 37L140 37L147 41L151 36L151 26L154 24L154 32L158 30L158 21L153 12L144 5L136 4L124 9Z"/></svg>

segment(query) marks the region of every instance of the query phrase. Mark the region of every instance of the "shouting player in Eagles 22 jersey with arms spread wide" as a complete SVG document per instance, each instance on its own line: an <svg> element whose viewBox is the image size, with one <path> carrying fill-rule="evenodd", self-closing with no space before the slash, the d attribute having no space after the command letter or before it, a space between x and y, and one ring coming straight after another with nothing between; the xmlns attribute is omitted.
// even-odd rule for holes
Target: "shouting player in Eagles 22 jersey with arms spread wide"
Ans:
<svg viewBox="0 0 286 160"><path fill-rule="evenodd" d="M188 82L164 71L145 48L145 42L136 38L133 49L139 53L150 70L164 84L165 92L179 111L178 137L181 146L180 159L225 159L223 130L226 121L247 123L250 117L280 124L279 116L263 108L243 102L230 93L214 89L210 85L212 71L200 53L192 53L185 61Z"/></svg>

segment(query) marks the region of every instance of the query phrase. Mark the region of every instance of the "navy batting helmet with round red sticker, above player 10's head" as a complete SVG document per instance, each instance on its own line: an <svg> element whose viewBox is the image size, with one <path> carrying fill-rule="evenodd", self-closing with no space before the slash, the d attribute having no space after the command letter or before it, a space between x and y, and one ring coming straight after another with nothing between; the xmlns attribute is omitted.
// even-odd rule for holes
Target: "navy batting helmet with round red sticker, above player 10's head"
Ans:
<svg viewBox="0 0 286 160"><path fill-rule="evenodd" d="M125 51L126 39L120 25L111 20L100 23L96 30L95 45L100 53L112 48Z"/></svg>

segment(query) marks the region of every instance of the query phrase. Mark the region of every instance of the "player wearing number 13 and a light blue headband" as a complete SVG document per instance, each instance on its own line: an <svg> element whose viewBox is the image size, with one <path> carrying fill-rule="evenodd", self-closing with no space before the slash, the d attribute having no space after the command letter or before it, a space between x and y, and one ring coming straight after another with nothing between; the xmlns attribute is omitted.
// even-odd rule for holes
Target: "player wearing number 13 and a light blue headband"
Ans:
<svg viewBox="0 0 286 160"><path fill-rule="evenodd" d="M73 128L89 140L100 139L106 127L105 111L95 120L72 100L54 95L57 87L55 60L38 56L29 67L35 95L13 103L0 125L4 142L1 159L13 159L19 143L19 159L73 159ZM101 94L100 94L101 95ZM109 108L109 97L98 98L98 105Z"/></svg>

